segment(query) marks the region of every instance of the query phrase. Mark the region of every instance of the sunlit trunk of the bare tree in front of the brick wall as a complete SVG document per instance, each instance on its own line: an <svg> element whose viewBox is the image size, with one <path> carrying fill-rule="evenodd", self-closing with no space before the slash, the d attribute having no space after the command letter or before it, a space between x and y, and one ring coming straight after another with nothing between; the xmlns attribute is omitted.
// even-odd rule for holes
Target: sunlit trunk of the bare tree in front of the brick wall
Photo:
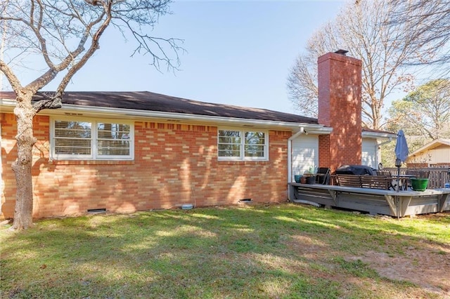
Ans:
<svg viewBox="0 0 450 299"><path fill-rule="evenodd" d="M34 109L31 104L32 95L18 95L14 114L17 121L18 158L13 163L17 191L15 196L15 211L13 230L25 230L31 227L33 211L32 186L32 149L36 142L33 136Z"/></svg>

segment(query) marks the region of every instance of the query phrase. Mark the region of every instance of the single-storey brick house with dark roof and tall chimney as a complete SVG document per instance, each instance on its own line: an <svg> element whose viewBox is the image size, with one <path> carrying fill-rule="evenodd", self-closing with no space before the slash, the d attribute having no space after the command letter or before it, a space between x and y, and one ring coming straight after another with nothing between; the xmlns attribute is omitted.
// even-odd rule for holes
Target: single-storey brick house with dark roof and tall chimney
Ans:
<svg viewBox="0 0 450 299"><path fill-rule="evenodd" d="M39 95L37 95L39 100ZM1 218L12 218L15 95L0 92ZM286 201L311 165L378 165L361 128L361 62L319 58L319 118L149 92L67 92L34 118L34 218Z"/></svg>

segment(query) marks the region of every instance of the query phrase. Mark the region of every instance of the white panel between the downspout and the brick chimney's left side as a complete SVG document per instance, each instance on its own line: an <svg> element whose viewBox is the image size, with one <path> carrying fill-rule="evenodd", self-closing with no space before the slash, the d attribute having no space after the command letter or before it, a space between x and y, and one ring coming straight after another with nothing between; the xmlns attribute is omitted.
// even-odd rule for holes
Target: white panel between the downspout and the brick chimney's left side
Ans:
<svg viewBox="0 0 450 299"><path fill-rule="evenodd" d="M319 136L300 135L293 140L293 175L319 165ZM293 179L293 178L292 178Z"/></svg>

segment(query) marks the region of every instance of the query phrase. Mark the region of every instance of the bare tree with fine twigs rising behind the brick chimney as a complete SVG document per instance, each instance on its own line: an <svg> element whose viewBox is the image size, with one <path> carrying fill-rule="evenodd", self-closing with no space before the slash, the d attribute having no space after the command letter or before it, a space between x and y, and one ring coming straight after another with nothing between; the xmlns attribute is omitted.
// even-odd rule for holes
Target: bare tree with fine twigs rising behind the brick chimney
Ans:
<svg viewBox="0 0 450 299"><path fill-rule="evenodd" d="M394 12L388 0L356 1L309 39L307 52L299 55L288 76L288 93L294 105L309 116L317 115L317 70L319 55L340 48L362 61L362 119L364 126L383 126L385 99L398 88L411 88L413 74L404 62L417 60L411 40L401 39L408 27L387 26ZM401 30L400 30L401 29ZM311 112L311 109L314 111Z"/></svg>

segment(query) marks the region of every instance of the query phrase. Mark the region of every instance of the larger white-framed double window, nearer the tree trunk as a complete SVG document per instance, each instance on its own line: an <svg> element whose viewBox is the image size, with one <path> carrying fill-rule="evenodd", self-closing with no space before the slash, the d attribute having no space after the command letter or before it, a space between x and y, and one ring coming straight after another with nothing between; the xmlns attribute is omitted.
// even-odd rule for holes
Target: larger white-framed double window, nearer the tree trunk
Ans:
<svg viewBox="0 0 450 299"><path fill-rule="evenodd" d="M132 160L134 125L131 121L52 117L52 159Z"/></svg>

